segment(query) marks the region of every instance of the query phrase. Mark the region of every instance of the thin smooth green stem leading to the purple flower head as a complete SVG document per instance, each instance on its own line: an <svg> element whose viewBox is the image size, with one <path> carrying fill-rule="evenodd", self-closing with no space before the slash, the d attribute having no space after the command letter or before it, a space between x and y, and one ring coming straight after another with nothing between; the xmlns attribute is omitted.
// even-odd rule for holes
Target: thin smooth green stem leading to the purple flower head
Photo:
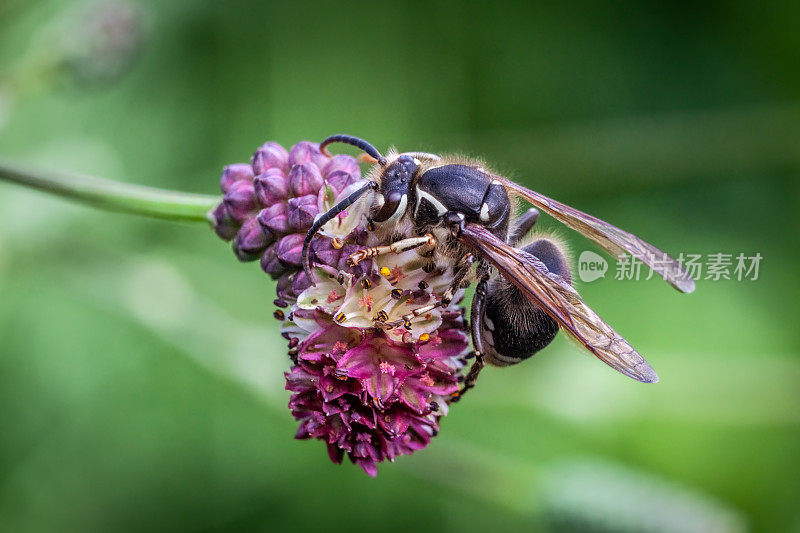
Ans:
<svg viewBox="0 0 800 533"><path fill-rule="evenodd" d="M0 180L71 198L100 209L169 220L206 221L220 198L35 170L0 159Z"/></svg>

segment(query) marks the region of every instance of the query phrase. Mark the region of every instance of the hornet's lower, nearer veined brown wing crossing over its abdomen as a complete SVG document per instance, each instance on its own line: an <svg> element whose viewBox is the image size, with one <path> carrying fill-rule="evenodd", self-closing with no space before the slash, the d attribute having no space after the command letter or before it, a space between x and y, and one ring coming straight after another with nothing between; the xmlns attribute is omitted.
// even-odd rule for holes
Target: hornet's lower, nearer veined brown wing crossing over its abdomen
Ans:
<svg viewBox="0 0 800 533"><path fill-rule="evenodd" d="M637 381L658 381L658 375L628 341L589 309L564 278L549 272L536 257L506 244L477 224L466 224L459 240L497 267L526 297L605 364Z"/></svg>

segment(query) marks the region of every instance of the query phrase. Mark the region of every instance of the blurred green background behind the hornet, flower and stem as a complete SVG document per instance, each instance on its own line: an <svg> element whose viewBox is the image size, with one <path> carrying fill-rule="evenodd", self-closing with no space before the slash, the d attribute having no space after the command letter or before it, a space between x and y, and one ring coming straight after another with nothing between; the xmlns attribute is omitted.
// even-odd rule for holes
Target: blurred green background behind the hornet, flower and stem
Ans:
<svg viewBox="0 0 800 533"><path fill-rule="evenodd" d="M0 2L15 161L216 193L264 141L346 132L763 256L689 296L612 262L579 289L660 383L559 338L370 479L293 440L257 265L0 183L0 529L800 531L800 7L698 4Z"/></svg>

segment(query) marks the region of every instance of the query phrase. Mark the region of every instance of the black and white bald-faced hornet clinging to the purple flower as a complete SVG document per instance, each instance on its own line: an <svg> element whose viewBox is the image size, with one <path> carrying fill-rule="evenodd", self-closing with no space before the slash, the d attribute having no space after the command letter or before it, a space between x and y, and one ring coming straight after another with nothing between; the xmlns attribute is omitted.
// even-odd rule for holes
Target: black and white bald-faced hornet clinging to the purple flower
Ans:
<svg viewBox="0 0 800 533"><path fill-rule="evenodd" d="M313 279L312 239L329 220L367 196L367 227L392 244L362 250L353 261L412 248L424 250L431 268L454 270L443 302L433 305L448 304L459 287L477 279L470 320L475 362L462 394L474 386L485 363L506 366L523 361L547 346L559 328L622 374L645 383L658 381L644 358L572 287L569 264L558 242L540 238L520 248L517 245L542 210L610 254L628 253L677 290L692 292L694 281L672 257L607 222L495 174L480 161L424 152L391 151L384 157L370 143L348 135L328 137L320 150L329 155L326 147L337 142L363 150L362 160L373 167L363 186L315 221L303 245L303 268ZM515 219L512 197L534 208ZM499 276L491 275L490 265ZM403 317L402 325L410 328L417 313L430 309L415 310Z"/></svg>

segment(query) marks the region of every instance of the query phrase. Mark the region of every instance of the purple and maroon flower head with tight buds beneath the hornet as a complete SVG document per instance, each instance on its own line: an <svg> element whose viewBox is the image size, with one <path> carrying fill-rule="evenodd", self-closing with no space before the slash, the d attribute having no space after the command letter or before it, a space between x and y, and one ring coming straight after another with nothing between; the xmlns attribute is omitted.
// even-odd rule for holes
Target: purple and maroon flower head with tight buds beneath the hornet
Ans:
<svg viewBox="0 0 800 533"><path fill-rule="evenodd" d="M241 261L260 260L277 280L275 317L288 340L286 389L300 421L296 438L326 443L368 474L377 463L424 448L458 390L468 352L459 298L440 302L452 274L430 269L415 250L353 264L365 247L387 244L364 225L365 202L323 226L312 241L315 280L301 267L315 218L360 185L355 158L328 158L318 145L259 148L250 164L225 168L217 234ZM408 324L405 324L408 326Z"/></svg>

